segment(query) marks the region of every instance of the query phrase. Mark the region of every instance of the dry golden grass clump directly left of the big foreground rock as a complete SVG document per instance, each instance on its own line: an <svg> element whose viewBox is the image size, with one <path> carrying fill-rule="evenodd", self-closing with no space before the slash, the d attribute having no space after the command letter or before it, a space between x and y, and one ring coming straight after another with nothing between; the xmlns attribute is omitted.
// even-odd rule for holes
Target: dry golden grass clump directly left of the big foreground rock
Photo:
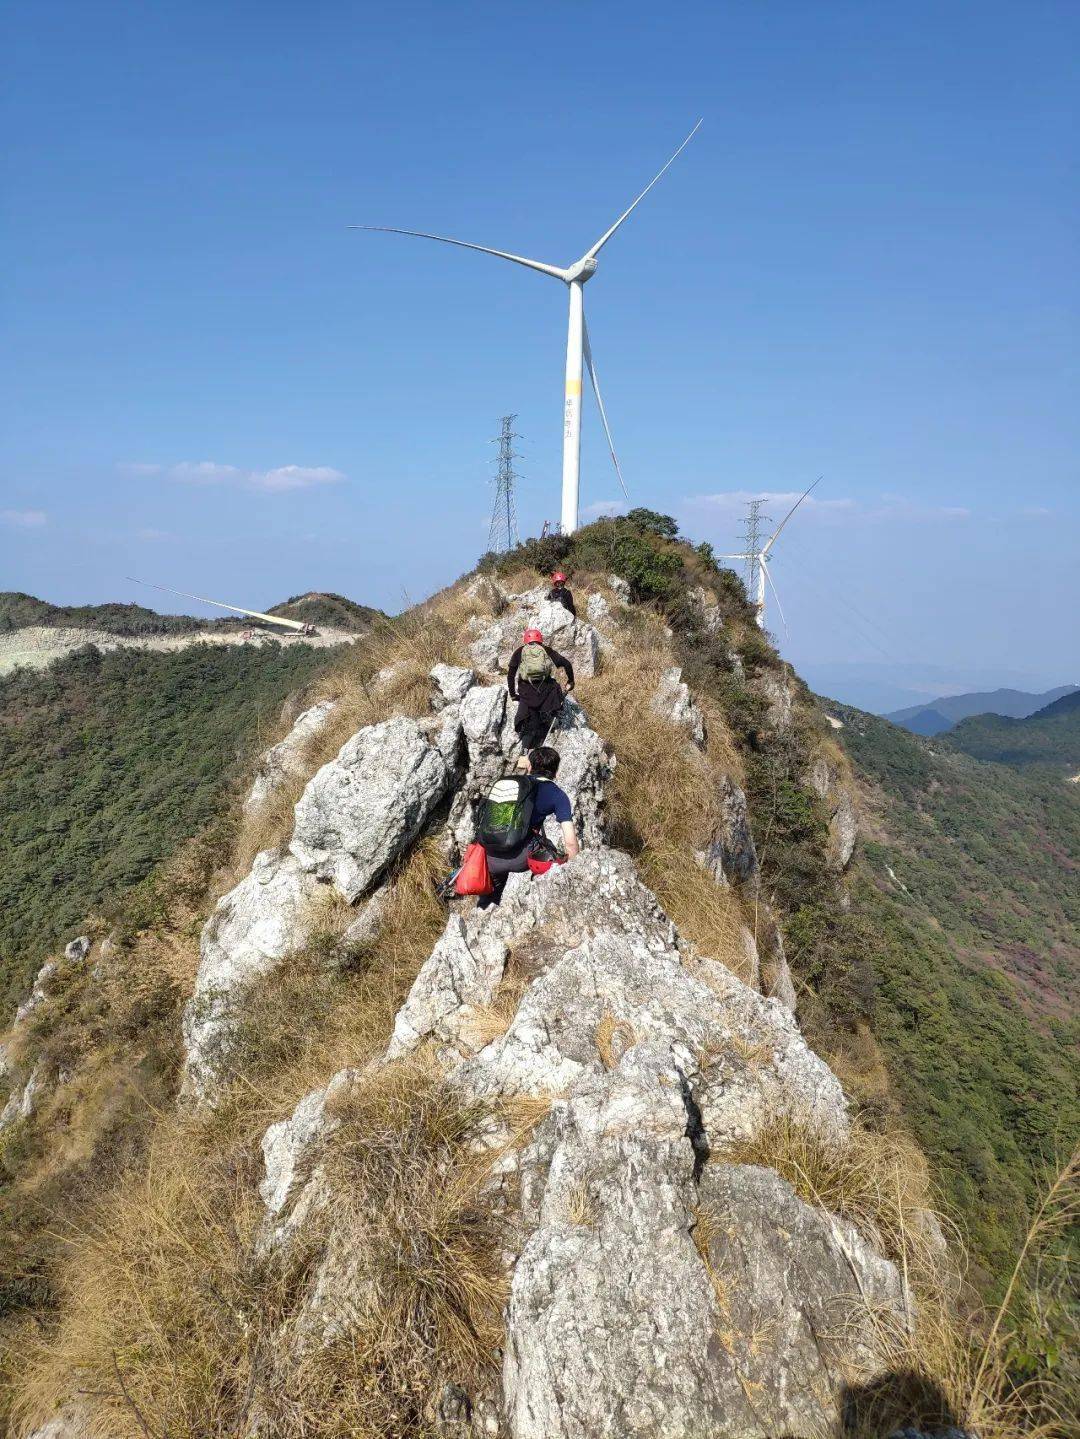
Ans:
<svg viewBox="0 0 1080 1439"><path fill-rule="evenodd" d="M324 1246L331 1271L364 1282L341 1309L324 1302L337 1337L308 1344L267 1396L270 1429L426 1436L433 1397L447 1381L475 1392L503 1337L503 1235L483 1194L493 1156L472 1143L486 1115L420 1055L354 1089L338 1118Z"/></svg>

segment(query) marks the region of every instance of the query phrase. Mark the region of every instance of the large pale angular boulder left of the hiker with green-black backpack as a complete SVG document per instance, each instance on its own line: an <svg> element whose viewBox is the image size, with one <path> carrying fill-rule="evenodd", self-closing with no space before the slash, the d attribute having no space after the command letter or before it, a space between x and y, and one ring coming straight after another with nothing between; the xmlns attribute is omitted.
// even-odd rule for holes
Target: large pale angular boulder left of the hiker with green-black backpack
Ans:
<svg viewBox="0 0 1080 1439"><path fill-rule="evenodd" d="M289 850L352 904L411 845L449 784L416 720L368 725L308 781Z"/></svg>

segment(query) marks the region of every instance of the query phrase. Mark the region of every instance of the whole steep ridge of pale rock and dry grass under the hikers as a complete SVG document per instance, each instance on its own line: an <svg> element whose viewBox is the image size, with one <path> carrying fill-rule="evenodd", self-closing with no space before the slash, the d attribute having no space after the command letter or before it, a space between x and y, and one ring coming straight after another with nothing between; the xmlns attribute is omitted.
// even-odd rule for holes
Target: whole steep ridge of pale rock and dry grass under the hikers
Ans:
<svg viewBox="0 0 1080 1439"><path fill-rule="evenodd" d="M890 1160L886 1199L838 1179L861 1131L795 1019L772 816L748 800L769 776L777 804L802 796L838 882L843 764L814 753L791 676L736 653L716 596L696 622L782 776L743 763L624 586L581 594L582 620L542 593L450 591L430 675L404 645L381 718L305 773L312 737L347 725L338 698L265 758L249 825L302 790L175 974L175 1112L19 1337L16 1433L871 1432L859 1396L890 1390L916 1328L907 1232L939 1235L899 1164L897 1223ZM502 666L534 619L582 681L549 741L582 853L440 912L430 875L521 753ZM16 1125L42 1092L78 1109L79 1056L59 1066L49 1036L72 986L131 951L66 963L78 979L43 973L9 1043Z"/></svg>

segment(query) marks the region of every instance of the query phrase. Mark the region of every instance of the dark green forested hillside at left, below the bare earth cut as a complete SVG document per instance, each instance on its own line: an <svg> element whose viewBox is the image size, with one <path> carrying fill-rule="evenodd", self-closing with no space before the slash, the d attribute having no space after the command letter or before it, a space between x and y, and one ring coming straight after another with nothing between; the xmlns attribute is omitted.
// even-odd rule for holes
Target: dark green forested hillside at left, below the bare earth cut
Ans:
<svg viewBox="0 0 1080 1439"><path fill-rule="evenodd" d="M0 681L4 1012L58 941L221 813L285 698L335 655L86 648Z"/></svg>

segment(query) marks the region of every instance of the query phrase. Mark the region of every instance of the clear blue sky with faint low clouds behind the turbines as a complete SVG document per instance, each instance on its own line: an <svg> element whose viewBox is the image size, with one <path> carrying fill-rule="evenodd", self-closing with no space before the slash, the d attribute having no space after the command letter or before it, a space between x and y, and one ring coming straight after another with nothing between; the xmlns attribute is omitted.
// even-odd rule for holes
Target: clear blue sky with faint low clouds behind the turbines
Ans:
<svg viewBox="0 0 1080 1439"><path fill-rule="evenodd" d="M790 658L1079 679L1073 3L7 7L0 587L390 609L558 514L577 258L636 504ZM585 404L582 504L618 494ZM164 606L163 606L164 607Z"/></svg>

